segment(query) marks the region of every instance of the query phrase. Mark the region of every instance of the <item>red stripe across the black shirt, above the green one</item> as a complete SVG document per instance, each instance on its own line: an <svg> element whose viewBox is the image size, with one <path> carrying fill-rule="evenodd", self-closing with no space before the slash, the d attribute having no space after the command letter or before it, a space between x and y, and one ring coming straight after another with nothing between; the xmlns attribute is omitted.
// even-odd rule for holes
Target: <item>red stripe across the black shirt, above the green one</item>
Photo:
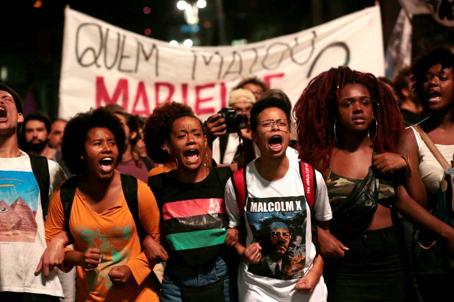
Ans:
<svg viewBox="0 0 454 302"><path fill-rule="evenodd" d="M163 206L164 220L205 215L211 213L227 214L224 198L200 198L167 202Z"/></svg>

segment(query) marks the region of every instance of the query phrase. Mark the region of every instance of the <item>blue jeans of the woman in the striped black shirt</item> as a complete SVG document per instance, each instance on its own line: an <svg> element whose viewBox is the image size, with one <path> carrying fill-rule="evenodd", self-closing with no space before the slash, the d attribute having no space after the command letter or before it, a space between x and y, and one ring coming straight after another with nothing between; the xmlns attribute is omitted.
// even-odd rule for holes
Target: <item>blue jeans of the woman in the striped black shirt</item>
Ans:
<svg viewBox="0 0 454 302"><path fill-rule="evenodd" d="M182 266L167 262L164 270L162 302L181 302L180 286L200 287L224 278L224 297L226 302L235 301L230 299L230 278L227 264L218 257L214 265L208 266Z"/></svg>

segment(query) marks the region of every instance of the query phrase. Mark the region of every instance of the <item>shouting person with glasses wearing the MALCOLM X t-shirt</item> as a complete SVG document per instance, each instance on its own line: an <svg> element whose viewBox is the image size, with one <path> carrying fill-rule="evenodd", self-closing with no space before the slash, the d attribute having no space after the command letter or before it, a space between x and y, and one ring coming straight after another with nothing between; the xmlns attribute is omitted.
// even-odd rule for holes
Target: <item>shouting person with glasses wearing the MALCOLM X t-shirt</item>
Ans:
<svg viewBox="0 0 454 302"><path fill-rule="evenodd" d="M229 227L247 231L246 240L235 245L242 260L240 301L326 301L323 260L312 243L300 163L286 155L289 106L276 98L261 100L252 107L250 125L261 155L245 168L244 202L235 181L230 179L225 189ZM331 210L318 172L316 183L314 217L326 222Z"/></svg>

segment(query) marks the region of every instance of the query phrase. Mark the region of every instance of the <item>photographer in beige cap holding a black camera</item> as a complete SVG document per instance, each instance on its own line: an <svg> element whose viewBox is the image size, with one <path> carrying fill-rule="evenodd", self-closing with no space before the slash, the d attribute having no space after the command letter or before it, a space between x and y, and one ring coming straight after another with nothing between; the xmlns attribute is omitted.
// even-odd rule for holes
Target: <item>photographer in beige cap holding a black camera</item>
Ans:
<svg viewBox="0 0 454 302"><path fill-rule="evenodd" d="M212 158L216 163L236 163L242 155L243 148L251 147L253 149L250 137L249 112L255 101L254 95L249 90L233 90L229 95L229 106L232 109L223 108L219 113L211 115L206 120L205 134L208 138L208 151L212 151ZM246 125L241 123L242 116L236 116L237 114L246 117ZM217 137L219 139L216 140ZM246 145L242 143L244 147L240 145L240 138L241 141L247 142ZM249 155L252 156L252 154ZM255 153L251 159L254 158Z"/></svg>

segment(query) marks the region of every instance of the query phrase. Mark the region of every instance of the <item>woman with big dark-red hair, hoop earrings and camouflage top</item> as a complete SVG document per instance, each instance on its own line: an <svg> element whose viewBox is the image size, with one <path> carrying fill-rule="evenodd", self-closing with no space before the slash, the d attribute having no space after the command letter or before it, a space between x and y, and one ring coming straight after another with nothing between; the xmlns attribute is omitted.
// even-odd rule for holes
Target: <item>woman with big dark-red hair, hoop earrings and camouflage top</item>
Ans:
<svg viewBox="0 0 454 302"><path fill-rule="evenodd" d="M407 162L393 152L404 124L391 91L371 74L332 68L311 80L293 113L300 158L322 172L332 208L330 230L318 229L320 253L332 258L328 301L411 301L396 208L438 233L450 227L399 182Z"/></svg>

